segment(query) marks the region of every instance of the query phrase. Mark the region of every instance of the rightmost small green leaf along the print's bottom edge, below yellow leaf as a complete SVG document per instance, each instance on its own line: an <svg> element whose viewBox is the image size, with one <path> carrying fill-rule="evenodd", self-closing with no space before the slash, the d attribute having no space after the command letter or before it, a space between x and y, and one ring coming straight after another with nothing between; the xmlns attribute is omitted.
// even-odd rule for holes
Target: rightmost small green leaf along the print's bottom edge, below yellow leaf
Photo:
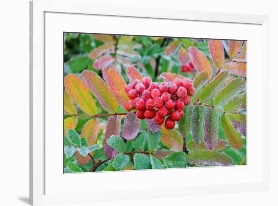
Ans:
<svg viewBox="0 0 278 206"><path fill-rule="evenodd" d="M163 162L167 168L186 167L187 154L184 152L175 152L163 158Z"/></svg>

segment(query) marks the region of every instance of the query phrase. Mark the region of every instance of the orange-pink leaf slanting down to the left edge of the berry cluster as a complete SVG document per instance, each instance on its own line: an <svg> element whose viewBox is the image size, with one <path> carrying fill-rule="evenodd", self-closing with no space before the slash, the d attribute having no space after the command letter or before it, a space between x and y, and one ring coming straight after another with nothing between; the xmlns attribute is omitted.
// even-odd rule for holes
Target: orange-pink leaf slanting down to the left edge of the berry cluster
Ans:
<svg viewBox="0 0 278 206"><path fill-rule="evenodd" d="M105 68L103 70L103 78L115 95L118 103L124 108L125 103L129 100L124 90L126 83L121 74L115 68Z"/></svg>

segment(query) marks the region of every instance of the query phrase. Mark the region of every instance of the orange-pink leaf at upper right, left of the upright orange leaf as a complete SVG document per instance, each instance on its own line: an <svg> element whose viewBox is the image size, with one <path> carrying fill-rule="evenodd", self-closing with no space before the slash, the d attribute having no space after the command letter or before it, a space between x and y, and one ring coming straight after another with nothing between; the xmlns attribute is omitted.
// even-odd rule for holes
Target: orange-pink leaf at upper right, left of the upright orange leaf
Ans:
<svg viewBox="0 0 278 206"><path fill-rule="evenodd" d="M212 69L205 54L196 47L189 47L189 54L197 70L199 72L206 71L208 73L209 79L211 79Z"/></svg>

